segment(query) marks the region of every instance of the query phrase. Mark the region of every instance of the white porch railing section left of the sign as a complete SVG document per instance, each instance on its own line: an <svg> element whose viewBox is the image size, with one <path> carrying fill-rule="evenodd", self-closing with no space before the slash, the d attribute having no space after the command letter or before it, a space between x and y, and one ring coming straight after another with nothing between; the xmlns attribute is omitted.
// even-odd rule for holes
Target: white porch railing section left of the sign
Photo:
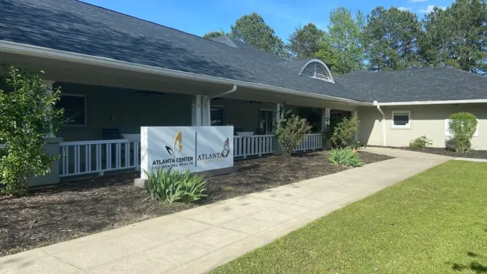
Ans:
<svg viewBox="0 0 487 274"><path fill-rule="evenodd" d="M59 143L61 159L59 176L89 173L103 175L106 171L140 168L139 141L88 140Z"/></svg>

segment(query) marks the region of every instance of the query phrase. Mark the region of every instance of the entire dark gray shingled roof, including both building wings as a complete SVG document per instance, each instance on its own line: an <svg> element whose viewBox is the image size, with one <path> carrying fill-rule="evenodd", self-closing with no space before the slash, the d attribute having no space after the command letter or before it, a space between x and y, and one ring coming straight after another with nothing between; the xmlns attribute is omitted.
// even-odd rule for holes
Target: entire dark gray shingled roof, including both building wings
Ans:
<svg viewBox="0 0 487 274"><path fill-rule="evenodd" d="M0 41L295 89L355 101L487 99L487 78L437 68L299 76L290 61L230 37L205 39L76 0L0 0ZM262 91L264 92L264 91Z"/></svg>

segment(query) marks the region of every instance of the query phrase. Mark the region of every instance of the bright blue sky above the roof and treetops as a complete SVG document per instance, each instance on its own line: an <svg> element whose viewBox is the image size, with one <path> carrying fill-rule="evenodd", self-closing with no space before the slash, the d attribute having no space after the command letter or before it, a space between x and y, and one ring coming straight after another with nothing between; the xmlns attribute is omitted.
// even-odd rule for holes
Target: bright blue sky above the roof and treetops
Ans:
<svg viewBox="0 0 487 274"><path fill-rule="evenodd" d="M299 25L316 24L326 29L330 10L345 6L367 15L376 6L411 10L421 19L434 6L445 8L453 0L82 0L162 24L167 27L203 36L209 31L224 29L242 15L259 13L276 34L288 41L289 34Z"/></svg>

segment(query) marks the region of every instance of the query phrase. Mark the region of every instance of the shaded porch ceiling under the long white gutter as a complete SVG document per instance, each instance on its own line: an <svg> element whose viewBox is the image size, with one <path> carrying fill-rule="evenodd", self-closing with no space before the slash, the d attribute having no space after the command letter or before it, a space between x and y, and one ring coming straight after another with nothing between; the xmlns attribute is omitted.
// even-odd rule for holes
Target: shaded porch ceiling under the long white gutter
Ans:
<svg viewBox="0 0 487 274"><path fill-rule="evenodd" d="M2 63L13 66L45 71L46 80L73 82L85 85L101 85L128 89L141 89L153 92L195 94L212 96L227 91L232 86L213 82L202 82L155 75L124 69L113 69L92 64L80 64L59 59L48 59L29 55L0 52ZM1 73L0 73L1 74ZM267 103L286 103L296 106L316 108L351 109L356 103L336 102L330 99L306 97L299 94L282 94L275 91L238 87L237 92L223 96L228 99L262 101Z"/></svg>

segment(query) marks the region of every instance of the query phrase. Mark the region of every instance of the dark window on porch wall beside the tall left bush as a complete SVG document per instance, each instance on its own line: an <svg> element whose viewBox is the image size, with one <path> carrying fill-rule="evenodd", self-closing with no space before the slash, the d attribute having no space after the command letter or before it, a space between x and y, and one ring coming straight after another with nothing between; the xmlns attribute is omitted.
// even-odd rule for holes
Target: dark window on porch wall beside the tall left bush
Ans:
<svg viewBox="0 0 487 274"><path fill-rule="evenodd" d="M86 125L86 97L84 95L62 94L56 108L64 108L67 125Z"/></svg>

